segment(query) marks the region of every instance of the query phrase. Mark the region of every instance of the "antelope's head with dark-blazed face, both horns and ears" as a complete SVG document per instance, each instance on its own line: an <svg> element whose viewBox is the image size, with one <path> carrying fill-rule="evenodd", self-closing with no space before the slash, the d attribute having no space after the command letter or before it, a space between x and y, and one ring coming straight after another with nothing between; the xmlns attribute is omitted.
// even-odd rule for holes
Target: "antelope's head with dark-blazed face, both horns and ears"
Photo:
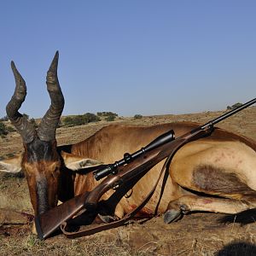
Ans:
<svg viewBox="0 0 256 256"><path fill-rule="evenodd" d="M64 108L64 97L57 77L58 58L59 54L56 52L46 76L51 104L38 129L18 111L25 101L26 83L16 69L15 63L11 62L16 86L15 93L6 107L6 113L20 133L24 154L0 161L0 171L20 172L22 169L25 172L35 215L56 206L62 163L65 164L67 161L67 167L71 166L70 169L73 170L78 169L77 166L83 166L81 162L84 163L84 167L88 163L83 161L84 158L72 154L63 153L62 157L57 151L55 131Z"/></svg>

